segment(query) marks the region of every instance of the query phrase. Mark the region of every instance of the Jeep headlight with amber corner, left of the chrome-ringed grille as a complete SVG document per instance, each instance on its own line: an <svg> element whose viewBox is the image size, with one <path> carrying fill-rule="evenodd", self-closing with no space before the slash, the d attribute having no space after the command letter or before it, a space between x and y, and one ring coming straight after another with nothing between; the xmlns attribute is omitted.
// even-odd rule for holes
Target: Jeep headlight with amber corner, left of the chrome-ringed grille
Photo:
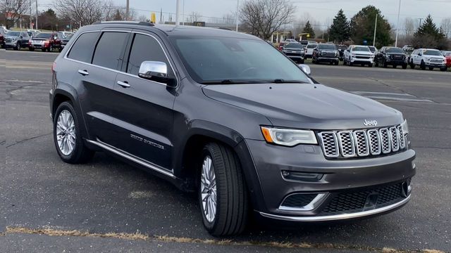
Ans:
<svg viewBox="0 0 451 253"><path fill-rule="evenodd" d="M298 144L318 144L314 131L299 129L279 129L261 126L261 133L268 143L294 146Z"/></svg>

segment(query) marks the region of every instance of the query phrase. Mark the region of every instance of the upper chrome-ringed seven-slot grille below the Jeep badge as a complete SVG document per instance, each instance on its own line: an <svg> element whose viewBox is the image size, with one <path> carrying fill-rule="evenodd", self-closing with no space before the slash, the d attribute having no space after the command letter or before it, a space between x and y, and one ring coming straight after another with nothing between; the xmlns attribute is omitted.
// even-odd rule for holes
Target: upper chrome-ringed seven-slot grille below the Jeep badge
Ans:
<svg viewBox="0 0 451 253"><path fill-rule="evenodd" d="M327 158L388 155L407 148L400 125L381 129L321 131L318 136Z"/></svg>

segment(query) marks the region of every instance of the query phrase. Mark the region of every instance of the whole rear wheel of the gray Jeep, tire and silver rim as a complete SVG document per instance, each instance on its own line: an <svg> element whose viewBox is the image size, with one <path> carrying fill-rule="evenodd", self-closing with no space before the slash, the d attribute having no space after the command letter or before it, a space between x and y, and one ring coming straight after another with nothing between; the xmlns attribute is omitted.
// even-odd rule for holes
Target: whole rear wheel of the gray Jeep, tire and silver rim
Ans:
<svg viewBox="0 0 451 253"><path fill-rule="evenodd" d="M70 117L72 117L72 120L70 120ZM57 128L57 126L60 127ZM89 150L83 143L79 130L81 126L82 124L78 120L78 115L72 104L63 102L58 105L54 116L54 144L63 162L70 164L85 163L94 155L94 151ZM73 131L70 131L70 129L73 129ZM63 136L59 137L61 145L58 144L58 136ZM70 149L70 143L73 143L72 149Z"/></svg>

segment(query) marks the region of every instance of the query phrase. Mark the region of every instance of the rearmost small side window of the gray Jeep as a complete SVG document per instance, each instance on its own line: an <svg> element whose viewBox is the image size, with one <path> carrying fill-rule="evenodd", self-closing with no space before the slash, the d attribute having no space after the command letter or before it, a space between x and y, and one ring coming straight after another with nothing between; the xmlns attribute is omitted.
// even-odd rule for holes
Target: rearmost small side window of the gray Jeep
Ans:
<svg viewBox="0 0 451 253"><path fill-rule="evenodd" d="M94 51L94 46L96 46L98 36L99 32L81 34L70 49L68 58L91 63L92 52Z"/></svg>

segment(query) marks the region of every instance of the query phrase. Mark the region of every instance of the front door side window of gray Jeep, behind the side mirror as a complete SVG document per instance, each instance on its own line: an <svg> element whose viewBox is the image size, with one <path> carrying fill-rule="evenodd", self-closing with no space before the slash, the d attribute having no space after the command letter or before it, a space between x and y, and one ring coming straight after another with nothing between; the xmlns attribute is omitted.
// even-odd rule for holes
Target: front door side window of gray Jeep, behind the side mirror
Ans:
<svg viewBox="0 0 451 253"><path fill-rule="evenodd" d="M135 34L135 39L133 39L132 49L128 58L127 72L137 75L141 63L146 60L166 63L168 66L168 76L173 76L171 66L168 63L168 58L166 58L159 42L153 37Z"/></svg>

